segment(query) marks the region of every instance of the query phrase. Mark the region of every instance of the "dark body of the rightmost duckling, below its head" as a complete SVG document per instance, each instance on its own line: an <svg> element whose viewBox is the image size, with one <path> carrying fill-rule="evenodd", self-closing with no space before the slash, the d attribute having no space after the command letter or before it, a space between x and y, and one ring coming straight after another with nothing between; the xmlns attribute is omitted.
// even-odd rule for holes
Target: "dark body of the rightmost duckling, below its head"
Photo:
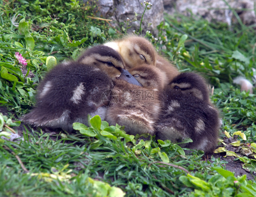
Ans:
<svg viewBox="0 0 256 197"><path fill-rule="evenodd" d="M156 139L181 142L191 138L193 142L184 144L190 149L210 152L216 145L220 128L218 110L208 102L190 98L172 100L163 109L156 126Z"/></svg>

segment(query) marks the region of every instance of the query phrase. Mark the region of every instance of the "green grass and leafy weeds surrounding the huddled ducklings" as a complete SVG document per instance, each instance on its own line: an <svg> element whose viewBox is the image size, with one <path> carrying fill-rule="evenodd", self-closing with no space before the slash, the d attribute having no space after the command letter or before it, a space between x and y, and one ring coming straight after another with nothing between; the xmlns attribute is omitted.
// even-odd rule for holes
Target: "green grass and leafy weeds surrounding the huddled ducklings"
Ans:
<svg viewBox="0 0 256 197"><path fill-rule="evenodd" d="M87 17L97 12L95 3L75 0L0 0L0 104L15 113L0 115L0 136L8 135L8 126L18 126L16 116L35 104L36 86L55 61L76 59L84 48L122 36L129 27L113 29L104 20ZM235 156L255 171L255 94L232 84L238 75L249 80L253 76L255 30L181 15L165 19L158 26L158 40L149 32L146 37L180 71L199 72L215 86L211 99L223 117L220 138L225 138L224 131L231 136L242 131L246 140L238 136ZM15 63L17 51L34 77L23 77ZM74 135L50 136L24 128L24 141L1 140L0 196L122 196L121 190L126 196L255 196L255 180L234 177L220 158L211 158L211 163L202 160L201 151L185 155L178 144L157 143L154 136L134 138L97 116L90 123L90 128L75 125L80 133Z"/></svg>

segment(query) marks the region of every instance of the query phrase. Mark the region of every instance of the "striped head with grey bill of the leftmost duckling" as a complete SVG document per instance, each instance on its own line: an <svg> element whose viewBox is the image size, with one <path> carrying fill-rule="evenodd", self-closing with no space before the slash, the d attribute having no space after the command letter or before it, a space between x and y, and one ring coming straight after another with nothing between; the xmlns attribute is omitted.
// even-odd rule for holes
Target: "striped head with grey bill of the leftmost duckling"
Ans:
<svg viewBox="0 0 256 197"><path fill-rule="evenodd" d="M126 70L124 62L119 53L111 47L98 45L89 48L77 60L88 66L101 70L112 80L125 80L131 84L141 84Z"/></svg>

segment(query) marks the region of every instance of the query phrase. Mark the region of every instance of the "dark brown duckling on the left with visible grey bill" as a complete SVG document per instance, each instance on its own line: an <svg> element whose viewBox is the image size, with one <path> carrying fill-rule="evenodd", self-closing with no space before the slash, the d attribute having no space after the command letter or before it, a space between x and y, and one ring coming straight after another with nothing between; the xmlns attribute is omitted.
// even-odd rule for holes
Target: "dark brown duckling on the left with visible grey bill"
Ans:
<svg viewBox="0 0 256 197"><path fill-rule="evenodd" d="M88 125L88 114L98 114L104 120L108 98L102 102L103 92L112 89L113 81L123 81L120 79L140 85L125 70L115 50L103 45L92 47L79 61L61 63L46 74L38 86L36 107L21 120L69 132L73 131L73 122Z"/></svg>

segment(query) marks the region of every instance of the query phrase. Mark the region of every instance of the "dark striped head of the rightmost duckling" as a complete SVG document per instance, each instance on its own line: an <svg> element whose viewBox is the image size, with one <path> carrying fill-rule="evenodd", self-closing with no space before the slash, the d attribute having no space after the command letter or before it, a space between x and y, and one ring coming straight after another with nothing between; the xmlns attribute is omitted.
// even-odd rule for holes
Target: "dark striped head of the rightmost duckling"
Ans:
<svg viewBox="0 0 256 197"><path fill-rule="evenodd" d="M181 73L175 77L166 87L170 94L179 94L180 98L183 96L191 97L209 101L209 91L205 80L196 73Z"/></svg>

